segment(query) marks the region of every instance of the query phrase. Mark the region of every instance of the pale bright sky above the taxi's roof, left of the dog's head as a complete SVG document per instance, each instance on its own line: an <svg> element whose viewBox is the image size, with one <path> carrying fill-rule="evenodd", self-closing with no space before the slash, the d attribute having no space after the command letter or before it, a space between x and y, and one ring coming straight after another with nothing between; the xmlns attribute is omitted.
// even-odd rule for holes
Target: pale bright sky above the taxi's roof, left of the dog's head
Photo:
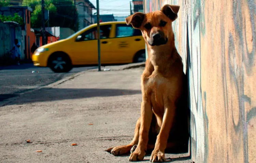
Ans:
<svg viewBox="0 0 256 163"><path fill-rule="evenodd" d="M132 0L99 0L100 14L114 14L114 16L130 15L130 1ZM96 0L90 0L96 7ZM96 10L93 13L97 12Z"/></svg>

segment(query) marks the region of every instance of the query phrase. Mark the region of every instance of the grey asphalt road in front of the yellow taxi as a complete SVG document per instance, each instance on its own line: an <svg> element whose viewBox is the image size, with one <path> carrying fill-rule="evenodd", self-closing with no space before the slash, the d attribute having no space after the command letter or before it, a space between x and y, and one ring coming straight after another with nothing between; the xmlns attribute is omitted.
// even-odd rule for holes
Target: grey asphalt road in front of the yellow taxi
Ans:
<svg viewBox="0 0 256 163"><path fill-rule="evenodd" d="M78 67L68 73L54 73L50 68L35 67L33 64L0 67L0 101L92 68L96 67Z"/></svg>

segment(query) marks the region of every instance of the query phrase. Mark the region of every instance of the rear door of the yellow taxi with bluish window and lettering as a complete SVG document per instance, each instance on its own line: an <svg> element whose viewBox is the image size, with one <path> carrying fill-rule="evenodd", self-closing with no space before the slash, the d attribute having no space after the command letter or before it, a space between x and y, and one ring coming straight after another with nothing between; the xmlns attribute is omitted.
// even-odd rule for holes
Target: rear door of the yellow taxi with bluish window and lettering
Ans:
<svg viewBox="0 0 256 163"><path fill-rule="evenodd" d="M112 50L113 63L131 63L133 56L141 49L145 49L141 31L132 28L131 25L116 24L115 48Z"/></svg>

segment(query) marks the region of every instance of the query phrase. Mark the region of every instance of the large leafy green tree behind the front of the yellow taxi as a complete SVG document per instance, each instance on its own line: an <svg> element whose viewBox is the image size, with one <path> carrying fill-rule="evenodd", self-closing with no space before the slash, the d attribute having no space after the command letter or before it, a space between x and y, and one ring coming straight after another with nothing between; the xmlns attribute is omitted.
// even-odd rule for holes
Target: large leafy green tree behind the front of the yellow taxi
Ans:
<svg viewBox="0 0 256 163"><path fill-rule="evenodd" d="M24 0L23 5L30 6L32 28L42 27L41 0ZM65 27L75 30L74 17L78 17L72 0L45 0L45 10L49 10L49 27ZM47 27L48 22L45 22ZM76 22L76 27L78 23Z"/></svg>

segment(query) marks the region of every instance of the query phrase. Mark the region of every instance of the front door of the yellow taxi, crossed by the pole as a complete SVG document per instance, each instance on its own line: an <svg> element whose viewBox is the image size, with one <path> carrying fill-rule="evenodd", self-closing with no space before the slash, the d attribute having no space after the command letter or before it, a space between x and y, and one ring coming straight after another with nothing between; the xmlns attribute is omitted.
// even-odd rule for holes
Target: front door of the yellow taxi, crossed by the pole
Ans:
<svg viewBox="0 0 256 163"><path fill-rule="evenodd" d="M111 44L109 41L109 33L111 25L100 26L100 41L101 41L101 63L106 62L109 58L108 45ZM109 30L109 31L108 31ZM72 45L72 53L77 64L98 64L98 33L97 27L93 27L88 31L85 31L81 35L77 36Z"/></svg>

